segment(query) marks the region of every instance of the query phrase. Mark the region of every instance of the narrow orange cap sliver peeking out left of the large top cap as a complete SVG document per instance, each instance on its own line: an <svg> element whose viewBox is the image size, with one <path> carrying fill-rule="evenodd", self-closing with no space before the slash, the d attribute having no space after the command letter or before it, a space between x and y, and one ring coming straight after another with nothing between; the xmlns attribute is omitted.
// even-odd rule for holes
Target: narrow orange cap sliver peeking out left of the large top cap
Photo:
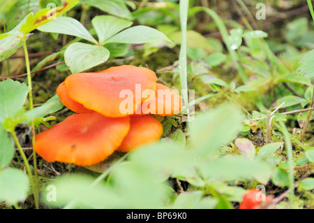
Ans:
<svg viewBox="0 0 314 223"><path fill-rule="evenodd" d="M73 99L68 96L68 92L66 90L64 82L61 82L61 84L58 86L57 95L59 96L61 103L63 103L63 105L65 105L68 109L73 110L73 112L75 113L93 112L92 110L85 108L81 103L73 101Z"/></svg>

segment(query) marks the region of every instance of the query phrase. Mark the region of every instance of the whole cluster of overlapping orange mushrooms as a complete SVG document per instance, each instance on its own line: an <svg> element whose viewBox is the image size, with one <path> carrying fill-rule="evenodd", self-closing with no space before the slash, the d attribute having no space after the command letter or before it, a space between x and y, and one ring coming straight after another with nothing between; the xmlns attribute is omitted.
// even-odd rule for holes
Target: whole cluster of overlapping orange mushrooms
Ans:
<svg viewBox="0 0 314 223"><path fill-rule="evenodd" d="M158 141L163 126L150 114L173 115L182 105L177 92L156 80L153 71L130 65L69 75L57 95L77 114L37 134L33 149L49 162L90 166L115 150Z"/></svg>

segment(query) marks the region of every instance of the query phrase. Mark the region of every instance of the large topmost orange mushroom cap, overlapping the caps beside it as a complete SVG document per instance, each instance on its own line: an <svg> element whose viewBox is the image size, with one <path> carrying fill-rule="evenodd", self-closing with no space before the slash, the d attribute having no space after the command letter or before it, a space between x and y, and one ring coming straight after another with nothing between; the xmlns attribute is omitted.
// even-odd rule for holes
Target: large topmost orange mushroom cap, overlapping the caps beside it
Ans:
<svg viewBox="0 0 314 223"><path fill-rule="evenodd" d="M122 65L69 75L65 85L70 98L85 108L107 117L124 117L134 114L140 103L154 96L144 98L142 92L155 92L156 80L156 74L147 68ZM130 101L127 109L122 106L126 100Z"/></svg>

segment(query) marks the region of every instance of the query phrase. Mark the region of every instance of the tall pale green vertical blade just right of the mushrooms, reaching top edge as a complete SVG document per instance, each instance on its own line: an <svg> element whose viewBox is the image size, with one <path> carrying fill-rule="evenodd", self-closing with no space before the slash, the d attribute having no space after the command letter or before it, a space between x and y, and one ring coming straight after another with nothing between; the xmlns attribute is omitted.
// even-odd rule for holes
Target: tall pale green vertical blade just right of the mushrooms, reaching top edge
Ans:
<svg viewBox="0 0 314 223"><path fill-rule="evenodd" d="M188 74L186 59L186 27L188 22L188 0L180 1L179 15L181 24L181 48L179 53L179 74L184 104L186 106L187 121L190 122L190 109L188 105Z"/></svg>

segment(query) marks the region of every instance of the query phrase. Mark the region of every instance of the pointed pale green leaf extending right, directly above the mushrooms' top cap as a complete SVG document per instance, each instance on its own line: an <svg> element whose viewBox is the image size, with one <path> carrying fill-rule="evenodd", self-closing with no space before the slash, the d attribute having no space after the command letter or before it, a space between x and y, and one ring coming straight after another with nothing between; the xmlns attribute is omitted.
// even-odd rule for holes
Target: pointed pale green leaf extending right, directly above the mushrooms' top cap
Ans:
<svg viewBox="0 0 314 223"><path fill-rule="evenodd" d="M170 41L165 34L146 26L136 26L125 29L119 34L108 38L105 43L147 43L151 41Z"/></svg>

